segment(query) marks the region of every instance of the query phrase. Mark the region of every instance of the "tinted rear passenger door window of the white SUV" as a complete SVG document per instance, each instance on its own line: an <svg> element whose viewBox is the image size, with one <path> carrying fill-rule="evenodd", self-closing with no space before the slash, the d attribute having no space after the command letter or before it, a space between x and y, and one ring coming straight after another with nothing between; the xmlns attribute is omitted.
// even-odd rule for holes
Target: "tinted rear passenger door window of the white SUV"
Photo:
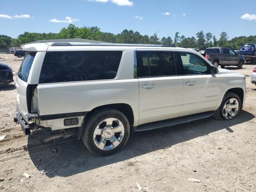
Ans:
<svg viewBox="0 0 256 192"><path fill-rule="evenodd" d="M176 75L174 54L170 51L137 51L137 77Z"/></svg>

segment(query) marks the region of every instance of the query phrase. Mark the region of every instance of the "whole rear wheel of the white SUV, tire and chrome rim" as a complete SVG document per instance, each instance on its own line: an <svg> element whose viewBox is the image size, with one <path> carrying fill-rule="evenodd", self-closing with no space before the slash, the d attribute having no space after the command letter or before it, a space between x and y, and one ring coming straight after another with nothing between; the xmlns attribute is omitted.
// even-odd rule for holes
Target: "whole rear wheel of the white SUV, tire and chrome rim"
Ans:
<svg viewBox="0 0 256 192"><path fill-rule="evenodd" d="M130 124L119 110L96 110L84 124L84 145L95 155L105 156L118 152L128 141Z"/></svg>

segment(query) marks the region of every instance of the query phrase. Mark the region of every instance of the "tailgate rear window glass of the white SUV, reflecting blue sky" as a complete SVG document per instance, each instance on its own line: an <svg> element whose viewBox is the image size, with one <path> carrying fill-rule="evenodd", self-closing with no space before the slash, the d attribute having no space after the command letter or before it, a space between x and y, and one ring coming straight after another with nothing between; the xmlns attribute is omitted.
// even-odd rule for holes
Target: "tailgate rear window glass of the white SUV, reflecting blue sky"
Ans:
<svg viewBox="0 0 256 192"><path fill-rule="evenodd" d="M22 64L20 65L20 69L18 71L18 77L25 82L28 81L28 75L29 75L35 56L36 56L36 53L26 53L22 61Z"/></svg>

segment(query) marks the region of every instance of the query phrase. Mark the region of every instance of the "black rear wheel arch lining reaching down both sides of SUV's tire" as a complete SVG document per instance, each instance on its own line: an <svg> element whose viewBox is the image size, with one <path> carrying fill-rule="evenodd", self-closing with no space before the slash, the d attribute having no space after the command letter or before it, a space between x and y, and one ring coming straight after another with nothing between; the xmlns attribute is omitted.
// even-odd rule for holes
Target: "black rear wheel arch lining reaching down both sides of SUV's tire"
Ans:
<svg viewBox="0 0 256 192"><path fill-rule="evenodd" d="M114 108L120 112L122 112L126 118L128 119L129 121L129 124L130 124L130 128L132 129L133 126L134 126L134 112L132 110L132 107L129 105L129 104L125 104L125 103L116 103L116 104L108 104L108 105L102 105L102 106L98 106L94 109L92 109L90 112L88 112L86 114L86 116L84 117L84 121L82 123L82 126L78 128L78 140L81 139L81 135L82 135L82 132L83 132L83 126L84 126L84 123L86 122L86 120L88 120L88 118L96 113L97 111L102 111L104 110L105 108Z"/></svg>

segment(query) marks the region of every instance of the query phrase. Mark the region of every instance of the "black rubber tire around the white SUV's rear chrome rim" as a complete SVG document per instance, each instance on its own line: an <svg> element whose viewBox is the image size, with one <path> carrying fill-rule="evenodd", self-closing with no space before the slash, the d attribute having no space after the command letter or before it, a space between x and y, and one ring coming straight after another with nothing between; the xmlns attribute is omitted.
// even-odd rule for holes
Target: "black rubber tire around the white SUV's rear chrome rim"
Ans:
<svg viewBox="0 0 256 192"><path fill-rule="evenodd" d="M124 126L124 134L121 142L116 147L110 150L102 150L98 148L94 143L94 130L96 130L96 127L107 118L116 118L120 120ZM82 133L82 140L84 142L84 145L90 152L98 156L106 156L112 155L121 150L127 143L129 135L130 124L126 116L122 112L114 108L103 108L101 110L94 111L92 114L86 117L84 123L84 131Z"/></svg>

